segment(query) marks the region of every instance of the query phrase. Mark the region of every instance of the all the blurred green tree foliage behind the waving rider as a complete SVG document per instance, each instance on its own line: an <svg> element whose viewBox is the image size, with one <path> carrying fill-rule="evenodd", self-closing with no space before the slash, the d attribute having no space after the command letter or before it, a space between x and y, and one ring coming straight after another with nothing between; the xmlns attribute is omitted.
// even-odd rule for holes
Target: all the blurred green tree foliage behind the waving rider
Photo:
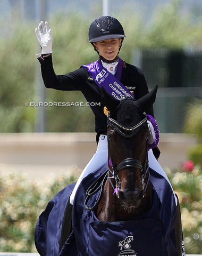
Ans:
<svg viewBox="0 0 202 256"><path fill-rule="evenodd" d="M193 23L181 12L181 1L157 7L149 22L141 20L131 11L117 13L127 37L124 38L120 57L130 62L134 47L148 49L166 47L182 49L201 37L202 21ZM132 19L131 19L132 17ZM83 64L97 60L98 55L88 43L89 17L79 13L57 13L49 18L53 34L53 63L56 74L65 74ZM0 132L33 132L40 107L36 102L37 68L40 64L35 36L37 24L33 21L0 22ZM40 74L38 74L40 76ZM41 84L40 86L44 86ZM81 92L45 90L44 102L86 102ZM28 106L26 106L26 102ZM37 102L36 102L37 103ZM47 132L94 132L94 115L90 107L45 107Z"/></svg>

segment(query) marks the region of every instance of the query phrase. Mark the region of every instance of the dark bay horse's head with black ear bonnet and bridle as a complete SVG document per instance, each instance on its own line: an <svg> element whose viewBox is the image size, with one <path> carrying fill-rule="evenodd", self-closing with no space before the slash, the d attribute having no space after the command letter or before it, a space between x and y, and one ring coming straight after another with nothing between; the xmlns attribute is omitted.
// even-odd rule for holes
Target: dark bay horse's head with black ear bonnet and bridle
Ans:
<svg viewBox="0 0 202 256"><path fill-rule="evenodd" d="M139 100L116 100L102 89L107 117L108 165L116 181L116 194L127 207L138 207L148 180L147 111L156 99L157 86Z"/></svg>

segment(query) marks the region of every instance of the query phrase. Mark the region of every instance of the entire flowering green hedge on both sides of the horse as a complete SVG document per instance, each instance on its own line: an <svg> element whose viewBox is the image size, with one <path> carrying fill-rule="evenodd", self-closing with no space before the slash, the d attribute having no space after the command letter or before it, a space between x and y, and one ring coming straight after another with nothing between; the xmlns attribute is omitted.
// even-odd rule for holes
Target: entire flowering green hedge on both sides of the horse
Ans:
<svg viewBox="0 0 202 256"><path fill-rule="evenodd" d="M174 174L167 172L181 204L186 252L201 254L202 170L189 161ZM14 173L0 175L1 252L36 252L33 237L38 216L59 190L77 180L75 167L72 173L34 181Z"/></svg>

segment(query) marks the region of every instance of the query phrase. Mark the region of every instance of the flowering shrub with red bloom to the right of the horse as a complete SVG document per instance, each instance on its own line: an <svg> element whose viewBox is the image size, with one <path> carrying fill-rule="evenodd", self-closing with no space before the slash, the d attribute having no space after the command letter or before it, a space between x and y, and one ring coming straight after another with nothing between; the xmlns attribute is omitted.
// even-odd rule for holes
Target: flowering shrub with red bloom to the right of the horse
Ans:
<svg viewBox="0 0 202 256"><path fill-rule="evenodd" d="M169 174L179 197L184 243L187 254L202 253L202 169L185 162L181 169Z"/></svg>

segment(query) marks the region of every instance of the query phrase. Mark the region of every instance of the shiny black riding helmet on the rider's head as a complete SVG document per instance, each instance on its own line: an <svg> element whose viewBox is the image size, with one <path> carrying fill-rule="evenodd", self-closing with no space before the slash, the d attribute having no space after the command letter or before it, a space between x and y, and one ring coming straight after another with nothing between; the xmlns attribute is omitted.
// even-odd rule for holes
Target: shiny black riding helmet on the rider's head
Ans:
<svg viewBox="0 0 202 256"><path fill-rule="evenodd" d="M89 43L106 39L125 37L121 23L110 16L102 16L95 19L89 28Z"/></svg>

